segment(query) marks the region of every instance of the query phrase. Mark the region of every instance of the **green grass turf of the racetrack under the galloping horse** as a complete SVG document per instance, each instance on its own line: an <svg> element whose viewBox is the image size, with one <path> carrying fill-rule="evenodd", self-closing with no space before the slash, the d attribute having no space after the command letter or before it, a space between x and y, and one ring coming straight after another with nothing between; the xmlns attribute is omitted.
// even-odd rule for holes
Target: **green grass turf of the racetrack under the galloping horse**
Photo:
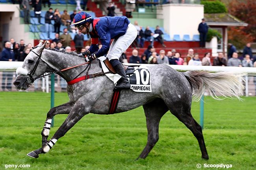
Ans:
<svg viewBox="0 0 256 170"><path fill-rule="evenodd" d="M68 101L66 93L56 93L55 99L55 106ZM147 141L142 107L115 115L86 115L48 154L33 159L26 154L41 147L50 94L0 92L0 170L8 164L29 164L19 169L31 170L195 170L197 163L255 170L256 98L243 99L206 97L203 133L208 161L201 159L193 134L171 113L163 116L160 139L147 159L134 161ZM192 114L199 122L199 102L193 102ZM66 116L55 117L50 136Z"/></svg>

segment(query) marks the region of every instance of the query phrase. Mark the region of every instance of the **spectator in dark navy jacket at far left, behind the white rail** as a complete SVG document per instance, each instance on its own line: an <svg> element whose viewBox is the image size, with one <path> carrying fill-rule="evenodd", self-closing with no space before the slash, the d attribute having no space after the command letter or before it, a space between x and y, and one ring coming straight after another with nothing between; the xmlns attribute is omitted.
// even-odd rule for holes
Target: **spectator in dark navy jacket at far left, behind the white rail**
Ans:
<svg viewBox="0 0 256 170"><path fill-rule="evenodd" d="M1 53L1 61L14 61L14 53L11 51L11 42L7 41L4 46L4 50ZM13 72L4 71L2 74L2 90L11 90L11 80L13 79ZM7 84L6 84L7 79Z"/></svg>

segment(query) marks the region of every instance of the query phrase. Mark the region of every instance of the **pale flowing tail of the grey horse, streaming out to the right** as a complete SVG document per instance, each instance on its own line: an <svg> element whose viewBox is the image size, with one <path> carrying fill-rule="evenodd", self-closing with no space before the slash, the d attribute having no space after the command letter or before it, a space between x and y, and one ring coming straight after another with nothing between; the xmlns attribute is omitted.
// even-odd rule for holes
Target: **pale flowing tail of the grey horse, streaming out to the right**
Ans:
<svg viewBox="0 0 256 170"><path fill-rule="evenodd" d="M210 93L211 97L221 100L215 92L220 95L230 98L236 97L241 99L243 95L243 75L241 73L219 72L209 73L207 71L186 71L183 73L189 81L193 91L194 100L198 101L206 92Z"/></svg>

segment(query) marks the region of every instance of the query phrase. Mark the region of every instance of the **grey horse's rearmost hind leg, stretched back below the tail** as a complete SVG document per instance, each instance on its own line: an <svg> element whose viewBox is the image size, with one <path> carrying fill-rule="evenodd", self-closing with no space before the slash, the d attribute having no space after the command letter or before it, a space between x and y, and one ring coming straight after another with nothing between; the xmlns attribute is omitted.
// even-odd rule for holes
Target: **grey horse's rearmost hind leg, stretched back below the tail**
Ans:
<svg viewBox="0 0 256 170"><path fill-rule="evenodd" d="M191 102L179 101L176 103L168 103L171 113L176 116L182 123L184 123L193 135L197 138L202 153L202 158L209 159L204 143L204 136L201 126L195 121L191 115Z"/></svg>

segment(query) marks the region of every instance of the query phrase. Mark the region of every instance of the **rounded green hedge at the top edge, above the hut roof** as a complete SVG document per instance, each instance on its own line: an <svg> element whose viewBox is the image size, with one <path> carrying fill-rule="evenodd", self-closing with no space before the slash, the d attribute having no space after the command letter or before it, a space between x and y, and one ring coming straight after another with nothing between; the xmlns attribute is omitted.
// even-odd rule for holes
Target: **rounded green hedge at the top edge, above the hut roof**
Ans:
<svg viewBox="0 0 256 170"><path fill-rule="evenodd" d="M222 2L219 1L201 1L204 5L204 13L226 13L227 9Z"/></svg>

